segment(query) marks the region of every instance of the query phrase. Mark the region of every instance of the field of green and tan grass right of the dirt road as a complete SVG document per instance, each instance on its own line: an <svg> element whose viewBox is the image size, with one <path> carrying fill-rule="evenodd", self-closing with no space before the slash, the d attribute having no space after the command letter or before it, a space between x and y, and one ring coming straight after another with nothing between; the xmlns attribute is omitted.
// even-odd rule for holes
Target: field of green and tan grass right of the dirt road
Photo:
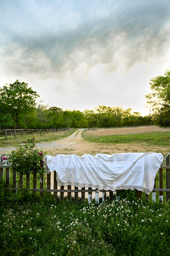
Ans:
<svg viewBox="0 0 170 256"><path fill-rule="evenodd" d="M132 127L89 130L83 133L83 138L89 142L112 144L147 143L153 146L170 146L170 128Z"/></svg>

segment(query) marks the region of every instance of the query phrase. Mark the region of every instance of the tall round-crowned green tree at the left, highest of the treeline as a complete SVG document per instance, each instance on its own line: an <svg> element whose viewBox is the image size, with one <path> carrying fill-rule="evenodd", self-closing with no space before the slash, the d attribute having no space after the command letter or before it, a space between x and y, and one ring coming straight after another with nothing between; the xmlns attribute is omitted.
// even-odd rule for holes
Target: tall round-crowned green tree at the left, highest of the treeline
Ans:
<svg viewBox="0 0 170 256"><path fill-rule="evenodd" d="M17 128L26 128L26 116L33 111L37 97L40 96L25 82L5 84L0 88L0 112L10 114Z"/></svg>

